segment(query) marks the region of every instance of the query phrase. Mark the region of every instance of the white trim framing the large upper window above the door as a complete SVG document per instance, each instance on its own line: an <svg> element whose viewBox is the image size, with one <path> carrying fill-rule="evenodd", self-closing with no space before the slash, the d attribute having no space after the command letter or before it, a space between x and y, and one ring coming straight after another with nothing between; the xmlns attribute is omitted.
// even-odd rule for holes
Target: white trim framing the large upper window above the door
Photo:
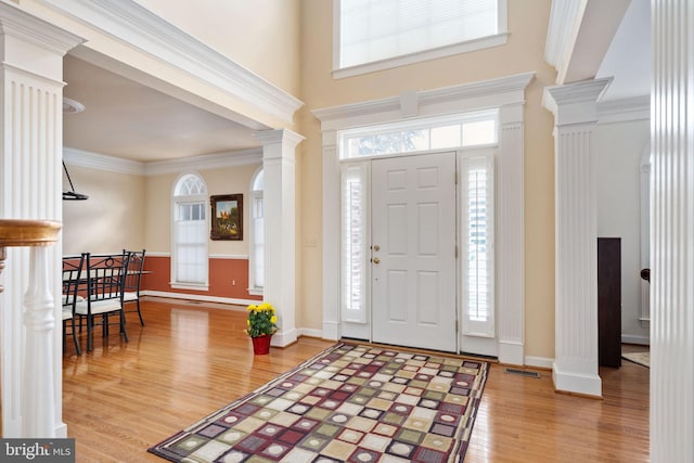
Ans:
<svg viewBox="0 0 694 463"><path fill-rule="evenodd" d="M339 66L339 35L340 35L340 17L339 2L342 0L333 0L333 78L344 79L347 77L359 76L362 74L375 73L378 70L391 69L394 67L407 66L409 64L421 63L440 57L452 56L461 53L470 53L476 50L484 50L492 47L500 47L507 42L509 38L509 15L507 0L499 0L499 33L493 36L483 37L475 40L468 40L461 43L454 43L447 47L439 47L430 50L424 50L416 53L410 53L401 56L394 56L387 60L374 61L357 66L340 67Z"/></svg>

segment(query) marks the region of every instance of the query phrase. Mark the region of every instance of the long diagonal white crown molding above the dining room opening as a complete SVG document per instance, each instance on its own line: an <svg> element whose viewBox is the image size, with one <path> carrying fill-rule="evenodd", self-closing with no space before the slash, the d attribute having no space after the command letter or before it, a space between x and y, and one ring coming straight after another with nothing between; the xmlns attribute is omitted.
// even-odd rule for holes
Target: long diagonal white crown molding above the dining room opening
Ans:
<svg viewBox="0 0 694 463"><path fill-rule="evenodd" d="M231 97L293 123L304 103L133 0L39 0Z"/></svg>

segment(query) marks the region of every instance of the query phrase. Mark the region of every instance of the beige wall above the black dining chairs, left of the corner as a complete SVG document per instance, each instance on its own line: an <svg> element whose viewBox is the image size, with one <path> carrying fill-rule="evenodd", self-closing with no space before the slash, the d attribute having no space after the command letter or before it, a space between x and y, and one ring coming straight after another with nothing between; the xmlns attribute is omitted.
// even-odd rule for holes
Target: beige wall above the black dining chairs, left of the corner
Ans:
<svg viewBox="0 0 694 463"><path fill-rule="evenodd" d="M87 201L63 202L63 254L142 249L145 178L67 166L75 191ZM64 179L63 189L69 190Z"/></svg>

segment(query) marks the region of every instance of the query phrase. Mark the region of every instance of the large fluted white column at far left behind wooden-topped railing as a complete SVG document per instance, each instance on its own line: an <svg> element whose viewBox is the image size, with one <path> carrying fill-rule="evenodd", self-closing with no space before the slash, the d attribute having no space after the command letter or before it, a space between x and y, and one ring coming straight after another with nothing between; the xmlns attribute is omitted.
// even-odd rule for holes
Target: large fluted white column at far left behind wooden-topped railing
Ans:
<svg viewBox="0 0 694 463"><path fill-rule="evenodd" d="M82 39L21 11L0 3L0 218L61 221L63 155L63 56ZM61 294L62 242L47 249L48 279L52 294ZM27 248L9 248L9 271L3 274L5 292L0 306L22 307L29 286ZM53 305L60 319L62 307ZM51 331L52 384L56 437L66 435L62 423L62 339L60 324ZM0 313L3 437L23 436L22 346L25 327L20 310ZM34 420L27 417L27 420ZM30 426L30 423L29 423Z"/></svg>

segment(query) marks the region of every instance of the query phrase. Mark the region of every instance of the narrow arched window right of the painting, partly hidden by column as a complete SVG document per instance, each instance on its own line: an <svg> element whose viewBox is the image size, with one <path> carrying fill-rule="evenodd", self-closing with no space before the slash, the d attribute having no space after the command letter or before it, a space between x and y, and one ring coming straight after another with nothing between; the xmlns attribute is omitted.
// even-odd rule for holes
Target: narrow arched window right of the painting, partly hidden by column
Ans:
<svg viewBox="0 0 694 463"><path fill-rule="evenodd" d="M248 244L248 291L262 294L265 286L265 208L262 203L264 175L260 167L250 181L250 239Z"/></svg>

